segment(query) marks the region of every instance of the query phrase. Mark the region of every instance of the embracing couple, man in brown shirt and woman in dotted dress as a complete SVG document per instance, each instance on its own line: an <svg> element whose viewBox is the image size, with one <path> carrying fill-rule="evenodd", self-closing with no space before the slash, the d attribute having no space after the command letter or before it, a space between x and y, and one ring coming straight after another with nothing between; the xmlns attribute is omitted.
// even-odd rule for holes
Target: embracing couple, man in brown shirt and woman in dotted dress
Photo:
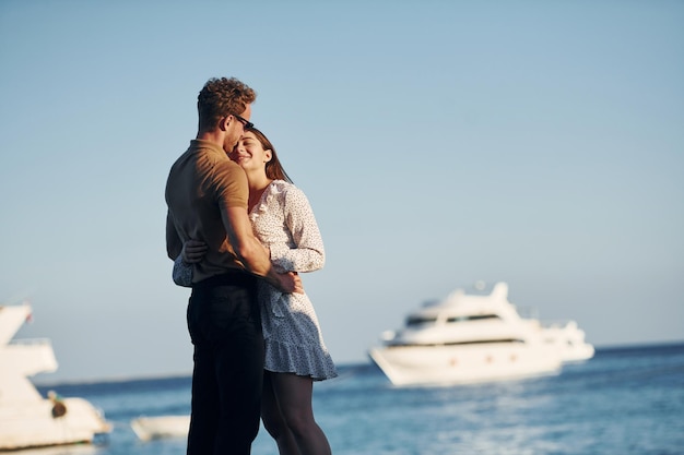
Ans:
<svg viewBox="0 0 684 455"><path fill-rule="evenodd" d="M306 195L249 121L252 88L211 79L166 183L174 282L192 288L189 455L249 454L259 419L284 454L330 454L314 381L337 376L300 272L323 266Z"/></svg>

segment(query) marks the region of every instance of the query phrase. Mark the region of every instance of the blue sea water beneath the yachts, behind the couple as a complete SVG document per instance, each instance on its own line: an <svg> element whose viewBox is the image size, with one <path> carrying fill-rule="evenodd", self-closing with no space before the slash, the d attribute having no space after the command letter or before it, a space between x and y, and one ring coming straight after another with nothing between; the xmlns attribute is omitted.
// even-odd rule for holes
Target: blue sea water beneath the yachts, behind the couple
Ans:
<svg viewBox="0 0 684 455"><path fill-rule="evenodd" d="M483 385L394 387L370 364L340 372L316 384L314 403L337 455L684 454L684 344L599 349L557 375ZM84 397L114 423L97 446L45 455L185 454L185 439L140 442L129 422L189 414L189 378L39 388ZM278 454L264 430L252 453Z"/></svg>

